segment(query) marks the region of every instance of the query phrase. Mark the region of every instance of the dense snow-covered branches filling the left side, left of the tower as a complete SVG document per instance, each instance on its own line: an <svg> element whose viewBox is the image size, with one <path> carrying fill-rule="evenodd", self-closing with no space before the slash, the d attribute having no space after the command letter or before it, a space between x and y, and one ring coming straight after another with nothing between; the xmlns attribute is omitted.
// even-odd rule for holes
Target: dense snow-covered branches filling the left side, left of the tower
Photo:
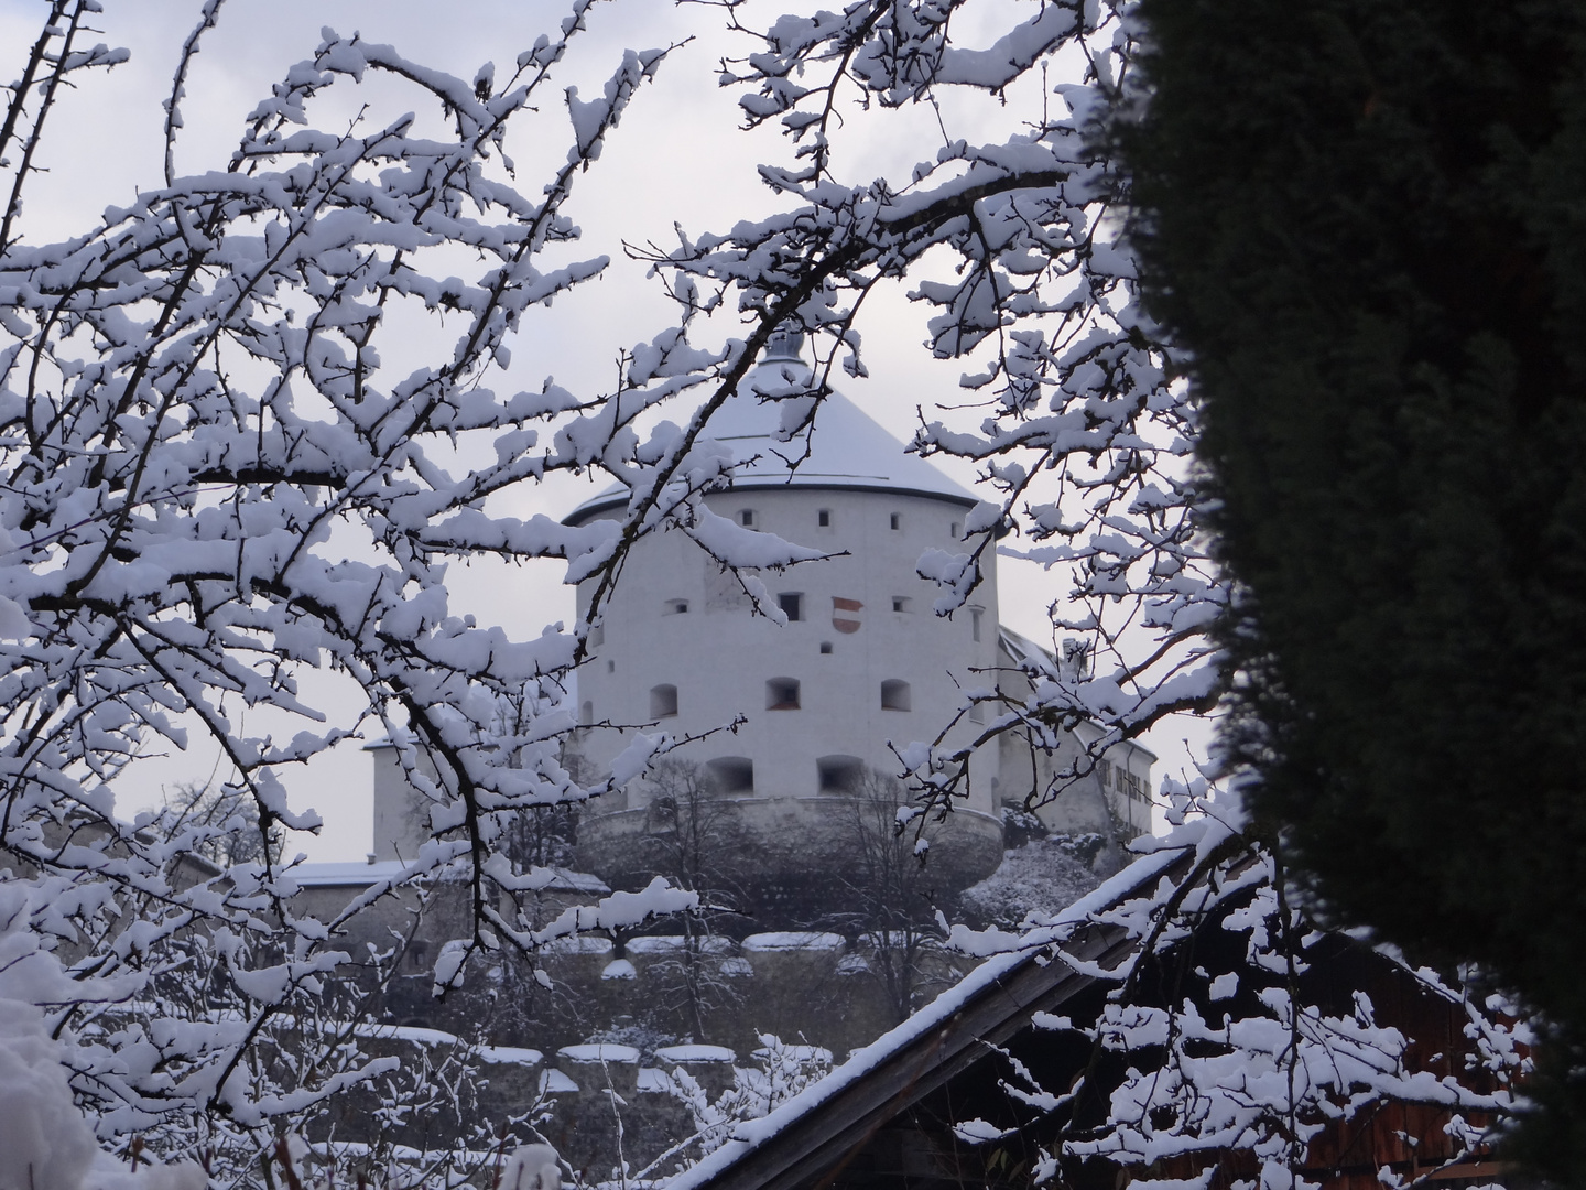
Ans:
<svg viewBox="0 0 1586 1190"><path fill-rule="evenodd" d="M508 133L536 103L563 116L541 97L588 6L515 68L473 78L327 29L230 162L184 176L192 59L224 19L209 0L165 103L163 184L62 243L24 240L21 194L62 84L125 60L81 48L98 5L49 5L6 92L0 1000L51 1014L108 1144L152 1157L203 1134L219 1177L347 1088L400 1084L349 1023L371 992L349 982L343 928L381 898L462 892L473 935L439 957L441 987L498 939L533 954L690 903L655 889L539 933L512 919L514 893L544 879L504 858L514 820L614 779L561 765L582 633L514 639L457 614L447 589L449 566L482 554L558 559L573 581L615 570L661 527L622 536L488 503L592 466L646 487L665 455L634 430L653 401L496 387L525 316L604 270L569 252L574 182L669 52L626 54L593 102L569 87L569 148L519 190ZM351 127L325 103L346 90ZM358 692L351 727L312 671ZM282 774L371 735L393 743L433 838L351 904L309 908L281 836L320 820ZM225 789L127 822L114 792L140 757L200 739ZM389 979L393 954L360 955L360 976ZM419 1092L390 1095L400 1114Z"/></svg>

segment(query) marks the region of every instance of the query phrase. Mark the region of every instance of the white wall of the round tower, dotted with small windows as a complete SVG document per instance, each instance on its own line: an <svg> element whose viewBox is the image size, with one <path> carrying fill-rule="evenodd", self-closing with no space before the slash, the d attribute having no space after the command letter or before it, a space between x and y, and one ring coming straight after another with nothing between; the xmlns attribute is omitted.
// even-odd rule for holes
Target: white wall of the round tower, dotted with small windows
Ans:
<svg viewBox="0 0 1586 1190"><path fill-rule="evenodd" d="M969 609L952 619L937 617L933 582L915 574L920 554L929 547L967 552L953 536L967 511L961 503L920 495L864 490L822 490L809 486L733 490L711 495L706 503L720 516L737 519L755 512L755 528L788 541L847 557L810 562L761 579L772 593L803 595L804 619L779 627L752 616L749 601L731 574L682 533L641 541L601 617L603 641L579 671L579 701L588 703L595 722L609 720L623 730L585 733L580 750L596 766L609 763L633 730L650 720L650 689L677 687L677 714L646 731L698 733L733 720L747 724L737 735L720 733L688 746L680 755L707 762L717 757L749 757L755 765L757 797L812 797L818 793L817 758L853 755L882 771L898 762L887 741L899 747L912 739L931 739L958 712L963 685L991 685L974 668L998 663L996 571L986 552L986 581L971 598L982 608L980 639L974 639ZM820 511L829 527L820 527ZM898 516L899 527L891 528ZM833 598L858 600L855 631L833 625ZM907 611L893 611L893 598L907 600ZM688 611L669 612L684 600ZM588 606L588 590L579 590L579 612ZM820 646L831 644L829 654ZM766 681L793 678L799 682L796 711L766 709ZM882 709L882 682L902 679L910 687L910 709ZM972 738L964 722L948 733L948 743ZM991 777L996 749L983 749L971 770L971 809L994 811Z"/></svg>

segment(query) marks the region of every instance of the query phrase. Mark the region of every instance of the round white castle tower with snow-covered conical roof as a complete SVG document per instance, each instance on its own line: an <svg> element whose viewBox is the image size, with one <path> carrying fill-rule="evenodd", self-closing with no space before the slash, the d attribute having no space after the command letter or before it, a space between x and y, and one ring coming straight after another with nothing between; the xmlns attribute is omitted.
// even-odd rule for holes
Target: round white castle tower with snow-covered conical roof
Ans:
<svg viewBox="0 0 1586 1190"><path fill-rule="evenodd" d="M744 393L711 419L706 433L753 462L704 503L744 528L837 557L758 574L787 614L777 625L755 616L741 579L682 533L641 541L579 670L587 727L576 743L600 771L631 738L600 724L680 736L745 716L736 733L674 755L731 806L733 846L753 857L753 900L787 904L790 922L809 920L853 862L856 782L898 771L888 746L933 739L961 709L963 690L994 684L999 663L994 568L952 617L934 614L939 590L915 573L926 549L969 551L963 525L975 497L841 393L826 397L807 455L803 438L777 441L783 406L757 397L810 384L801 344L801 335L776 336ZM617 516L625 500L626 489L604 492L566 520ZM587 608L585 584L580 616ZM966 717L947 743L969 743L977 730ZM974 755L967 803L934 830L929 863L944 892L1001 860L998 763L996 746ZM625 803L590 804L580 863L615 887L646 879L646 838L665 828L655 800L653 782L638 782Z"/></svg>

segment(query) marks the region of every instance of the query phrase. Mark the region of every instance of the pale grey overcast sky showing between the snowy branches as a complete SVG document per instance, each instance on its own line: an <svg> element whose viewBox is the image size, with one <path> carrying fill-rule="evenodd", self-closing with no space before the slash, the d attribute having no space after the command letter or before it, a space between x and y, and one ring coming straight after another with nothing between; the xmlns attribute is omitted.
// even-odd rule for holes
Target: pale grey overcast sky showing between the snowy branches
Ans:
<svg viewBox="0 0 1586 1190"><path fill-rule="evenodd" d="M0 0L0 73L6 78L19 73L19 59L38 33L43 8L43 0ZM187 83L178 171L224 168L246 113L270 94L271 83L290 63L312 54L322 27L344 35L357 30L365 40L390 43L414 60L465 78L493 60L503 78L541 32L555 32L565 8L560 0L227 0L217 29L205 35ZM796 8L817 5L779 0L761 5L758 14ZM960 25L960 35L991 40L996 24L1018 8L1023 5L1017 0L990 0L975 10L986 24L979 30ZM102 40L128 48L132 60L86 81L56 114L59 122L51 129L43 160L49 173L30 182L27 192L25 225L33 243L81 233L98 222L108 205L127 203L140 187L162 184L160 105L170 94L178 52L200 2L105 0L105 10L98 25ZM639 95L607 140L601 160L577 182L569 209L584 230L577 255L611 255L607 274L558 298L555 309L527 317L512 344L512 382L538 389L554 374L580 395L609 390L617 351L650 340L671 322L658 284L644 278L644 265L623 257L622 241L671 244L674 222L698 235L777 209L779 200L758 181L755 165L782 160L785 154L774 130L749 135L736 127L739 92L717 86L718 60L741 56L749 46L725 30L718 10L612 0L596 5L588 24L588 33L576 38L558 70L560 86L544 92L538 122L519 129L509 143L528 194L538 192L538 179L565 160L568 125L561 87L574 84L590 97L620 62L623 49L693 40L663 65L658 83ZM368 98L390 105L373 116L381 122L419 102L412 92L379 86L370 89ZM966 98L948 106L942 119L950 135L974 140L977 133L996 135L991 124L1006 129L1009 111ZM841 143L845 157L839 163L860 163L845 181L906 179L917 160L934 157L940 140L937 114L929 108L866 113L847 122ZM717 324L706 338L714 335L720 341L741 333L730 317ZM861 330L871 378L845 381L842 387L898 436L907 436L915 406L960 398L956 379L963 363L936 363L920 347L925 313L907 303L901 290L880 294ZM952 460L942 466L966 484L974 479L972 468ZM587 486L525 489L512 511L560 516L588 493ZM454 584L455 609L476 611L520 635L538 633L547 622L571 622L573 592L561 585L560 570L558 563L506 574L488 565L471 568ZM1066 589L1066 576L1047 576L1028 563L1004 560L1001 578L1002 622L1050 641L1045 608ZM1178 771L1183 752L1174 743L1175 735L1183 731L1158 731L1147 744ZM162 782L208 779L214 763L216 750L198 744L186 755L147 766L140 789L130 798L128 792L119 795L124 811L136 808L127 801L157 797ZM368 849L370 773L366 755L343 747L316 762L309 773L289 777L293 801L314 804L327 820L320 839L301 841L311 858L360 858ZM330 790L336 790L335 798L325 797Z"/></svg>

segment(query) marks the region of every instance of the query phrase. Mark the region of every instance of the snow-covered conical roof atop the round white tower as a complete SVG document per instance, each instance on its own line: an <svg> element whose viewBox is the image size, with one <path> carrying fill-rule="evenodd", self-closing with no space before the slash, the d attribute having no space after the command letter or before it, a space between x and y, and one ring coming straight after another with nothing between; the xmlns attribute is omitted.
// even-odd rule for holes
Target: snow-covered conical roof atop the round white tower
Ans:
<svg viewBox="0 0 1586 1190"><path fill-rule="evenodd" d="M847 489L923 495L966 506L980 503L934 463L907 454L901 441L841 392L822 401L814 428L795 435L791 441L779 441L783 417L796 424L807 406L798 397L769 398L804 392L810 382L810 368L796 349L772 346L744 378L739 393L711 417L706 435L731 447L734 459L753 460L737 470L734 492ZM628 489L614 484L573 509L566 522L579 524L596 512L622 508L626 500Z"/></svg>

